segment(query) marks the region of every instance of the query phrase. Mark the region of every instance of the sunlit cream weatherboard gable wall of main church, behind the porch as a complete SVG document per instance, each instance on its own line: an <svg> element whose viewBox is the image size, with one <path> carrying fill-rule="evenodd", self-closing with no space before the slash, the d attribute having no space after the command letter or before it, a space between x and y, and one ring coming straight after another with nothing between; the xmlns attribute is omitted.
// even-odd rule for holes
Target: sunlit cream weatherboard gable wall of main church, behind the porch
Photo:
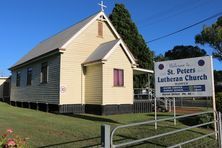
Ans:
<svg viewBox="0 0 222 148"><path fill-rule="evenodd" d="M65 92L60 94L61 104L85 103L85 75L81 64L101 43L116 39L105 22L103 37L98 37L97 23L93 22L70 42L61 56L60 85L65 88Z"/></svg>

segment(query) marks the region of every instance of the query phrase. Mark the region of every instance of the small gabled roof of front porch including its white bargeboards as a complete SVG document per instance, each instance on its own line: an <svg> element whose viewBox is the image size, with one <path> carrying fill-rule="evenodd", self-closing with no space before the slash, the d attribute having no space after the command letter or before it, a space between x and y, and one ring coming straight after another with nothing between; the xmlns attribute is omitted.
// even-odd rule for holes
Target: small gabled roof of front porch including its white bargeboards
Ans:
<svg viewBox="0 0 222 148"><path fill-rule="evenodd" d="M112 54L112 52L116 49L116 47L120 45L122 45L123 50L126 56L129 58L130 62L136 65L134 57L132 56L128 48L124 45L122 39L117 39L100 44L96 48L96 50L83 62L83 65L98 61L106 61L108 57Z"/></svg>

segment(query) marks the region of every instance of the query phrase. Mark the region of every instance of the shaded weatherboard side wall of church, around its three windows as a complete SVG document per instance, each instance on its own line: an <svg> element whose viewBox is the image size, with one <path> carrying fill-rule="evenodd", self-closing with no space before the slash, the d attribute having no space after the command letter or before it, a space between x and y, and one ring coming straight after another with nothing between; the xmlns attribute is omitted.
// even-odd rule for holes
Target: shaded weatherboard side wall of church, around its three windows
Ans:
<svg viewBox="0 0 222 148"><path fill-rule="evenodd" d="M40 84L41 64L48 62L48 83ZM27 86L27 68L32 68L32 84ZM21 72L20 86L16 86L16 72ZM35 62L12 71L11 101L59 104L60 55Z"/></svg>

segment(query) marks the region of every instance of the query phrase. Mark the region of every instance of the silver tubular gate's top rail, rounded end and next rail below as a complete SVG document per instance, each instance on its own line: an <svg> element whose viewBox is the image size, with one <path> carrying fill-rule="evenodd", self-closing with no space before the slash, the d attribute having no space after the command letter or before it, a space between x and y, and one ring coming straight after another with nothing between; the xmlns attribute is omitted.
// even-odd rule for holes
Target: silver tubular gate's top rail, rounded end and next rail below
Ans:
<svg viewBox="0 0 222 148"><path fill-rule="evenodd" d="M145 121L145 122L140 122L140 123L131 123L131 124L127 124L127 125L120 125L120 126L117 126L116 128L114 128L112 130L112 132L111 132L111 137L110 137L111 145L113 147L119 147L119 146L125 146L125 145L129 145L129 144L139 143L139 142L142 142L142 141L145 141L145 140L150 140L150 139L154 139L154 138L157 138L157 137L162 137L162 136L166 136L166 135L169 135L169 134L174 134L174 133L177 133L177 132L185 131L187 129L192 129L192 128L201 127L201 126L204 126L204 125L209 125L209 124L212 124L212 123L214 123L216 121L211 121L211 122L207 122L207 123L203 123L203 124L198 124L198 125L195 125L195 126L184 128L184 129L180 129L180 130L176 130L176 131L172 131L172 132L168 132L168 133L163 133L163 134L159 134L159 135L155 135L155 136L152 136L152 137L147 137L147 138L143 138L143 139L139 139L139 140L134 140L134 141L131 141L131 142L128 142L128 143L122 143L122 144L114 145L113 144L113 140L112 140L113 136L114 136L114 133L115 133L115 131L117 129L120 129L120 128L126 128L126 127L131 127L131 126L138 126L138 125L144 125L144 124L157 123L157 122L161 122L161 121L174 120L174 119L191 117L191 116L197 116L197 115L202 115L202 114L209 114L209 113L214 113L214 111L192 113L192 114L181 115L181 116L176 116L176 117L163 118L163 119L152 120L152 121Z"/></svg>

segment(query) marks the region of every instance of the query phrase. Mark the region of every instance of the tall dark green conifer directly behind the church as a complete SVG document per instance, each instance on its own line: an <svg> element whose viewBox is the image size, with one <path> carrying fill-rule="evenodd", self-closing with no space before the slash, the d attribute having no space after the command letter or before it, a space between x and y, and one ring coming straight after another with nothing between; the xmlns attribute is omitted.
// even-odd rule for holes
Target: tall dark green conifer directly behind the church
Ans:
<svg viewBox="0 0 222 148"><path fill-rule="evenodd" d="M153 52L147 47L145 40L132 21L129 11L123 4L115 4L109 16L113 26L120 34L123 41L138 60L141 68L153 69ZM147 77L134 77L134 87L143 87L147 82Z"/></svg>

